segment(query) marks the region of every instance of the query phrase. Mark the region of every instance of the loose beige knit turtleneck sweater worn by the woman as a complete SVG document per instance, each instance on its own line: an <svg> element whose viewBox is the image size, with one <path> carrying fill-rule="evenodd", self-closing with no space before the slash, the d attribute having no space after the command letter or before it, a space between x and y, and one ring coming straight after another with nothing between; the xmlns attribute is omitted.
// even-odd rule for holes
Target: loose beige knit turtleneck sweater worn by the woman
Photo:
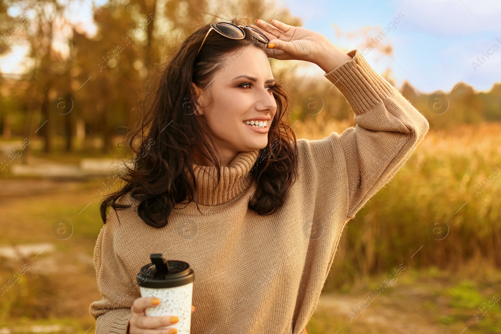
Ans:
<svg viewBox="0 0 501 334"><path fill-rule="evenodd" d="M405 163L428 131L426 119L368 65L358 50L324 76L346 97L354 128L298 140L300 177L274 214L247 208L259 151L222 167L195 167L203 214L172 210L163 228L146 225L128 194L111 210L94 249L102 299L90 305L96 333L123 334L135 283L151 253L186 261L195 272L192 334L300 334L312 316L349 219ZM180 206L179 206L180 207ZM178 208L176 206L176 208ZM117 218L119 217L119 219Z"/></svg>

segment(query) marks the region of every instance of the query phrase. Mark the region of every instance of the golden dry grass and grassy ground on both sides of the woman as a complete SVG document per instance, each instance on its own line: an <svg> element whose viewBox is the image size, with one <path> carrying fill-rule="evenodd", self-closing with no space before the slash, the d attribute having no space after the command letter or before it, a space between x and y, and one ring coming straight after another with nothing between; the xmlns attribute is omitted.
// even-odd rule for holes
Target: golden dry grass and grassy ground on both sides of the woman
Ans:
<svg viewBox="0 0 501 334"><path fill-rule="evenodd" d="M349 125L317 117L298 122L294 129L299 138L320 139ZM478 307L491 300L492 294L501 296L497 290L501 286L501 178L494 178L476 197L473 187L492 174L495 163L501 163L500 139L499 124L463 125L425 137L393 178L394 185L381 189L348 223L341 256L334 260L308 324L311 334L335 333L340 327L338 333L459 333L465 327L468 332L499 332L501 301L477 322L473 314L479 314ZM17 197L2 196L0 243L45 242L56 247L36 258L0 258L2 284L23 263L31 265L23 280L0 296L0 332L4 326L12 333L38 332L32 324L47 332L51 328L68 333L93 330L88 308L100 298L92 252L102 226L97 205L102 181L63 182L48 186L45 192L30 191L30 196L23 192ZM24 186L27 181L17 182ZM52 232L61 218L74 228L67 240L59 240ZM448 224L442 240L437 238L444 234L433 233L437 219ZM445 226L441 228L445 233ZM347 314L353 313L352 307L400 263L406 269L398 281L350 321ZM54 324L58 327L50 327Z"/></svg>

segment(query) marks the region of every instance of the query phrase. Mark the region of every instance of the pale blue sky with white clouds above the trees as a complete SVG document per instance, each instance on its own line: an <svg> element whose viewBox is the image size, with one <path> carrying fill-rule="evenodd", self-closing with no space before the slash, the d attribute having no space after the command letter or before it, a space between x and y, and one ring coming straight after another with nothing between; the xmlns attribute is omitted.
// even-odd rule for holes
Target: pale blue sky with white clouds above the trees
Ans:
<svg viewBox="0 0 501 334"><path fill-rule="evenodd" d="M93 35L90 3L72 2L69 15L72 22L80 22ZM293 16L300 17L304 28L325 35L344 52L360 50L377 73L390 69L390 77L398 88L406 80L423 93L450 92L464 82L476 91L487 92L494 83L501 82L499 0L277 0L276 3L277 8L286 8ZM368 48L370 39L381 32L383 38L378 43L371 42L377 48ZM63 50L64 43L59 44ZM387 46L392 51L382 52L388 50L384 48ZM20 66L25 50L20 46L0 59L0 70L26 71ZM308 75L324 73L314 64L305 65L303 71Z"/></svg>

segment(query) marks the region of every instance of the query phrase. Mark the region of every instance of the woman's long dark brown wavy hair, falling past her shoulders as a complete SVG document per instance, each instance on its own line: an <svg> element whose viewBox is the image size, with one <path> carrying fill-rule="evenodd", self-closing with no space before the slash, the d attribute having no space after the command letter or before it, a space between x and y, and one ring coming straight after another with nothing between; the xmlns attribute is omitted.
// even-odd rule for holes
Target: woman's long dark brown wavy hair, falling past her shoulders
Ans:
<svg viewBox="0 0 501 334"><path fill-rule="evenodd" d="M236 18L231 19L231 23L243 25L242 20ZM176 48L162 66L154 88L147 92L144 117L139 127L129 132L127 140L127 150L130 148L135 153L135 159L124 164L120 179L125 182L120 189L109 193L101 202L103 223L109 207L115 210L130 207L130 204L115 203L129 191L140 201L139 217L153 227L167 224L176 203L194 201L200 211L192 150L196 149L216 166L220 180L220 159L213 149L215 145L205 120L196 117L190 108L198 106L191 82L206 87L235 51L255 47L265 52L266 45L251 34L245 34L242 40L232 40L211 32L195 58L209 28L210 25L205 24L196 29ZM279 83L273 87L272 94L277 112L268 132L268 145L261 149L250 172L258 186L248 208L259 215L274 213L284 203L288 189L297 178L298 148L296 135L289 125L289 94Z"/></svg>

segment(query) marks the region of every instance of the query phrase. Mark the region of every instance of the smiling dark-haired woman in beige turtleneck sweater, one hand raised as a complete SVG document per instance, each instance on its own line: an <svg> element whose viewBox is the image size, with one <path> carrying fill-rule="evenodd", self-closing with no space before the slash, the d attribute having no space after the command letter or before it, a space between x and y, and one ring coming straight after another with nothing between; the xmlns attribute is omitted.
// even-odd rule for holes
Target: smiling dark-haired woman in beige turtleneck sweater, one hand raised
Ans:
<svg viewBox="0 0 501 334"><path fill-rule="evenodd" d="M306 333L346 223L428 131L358 50L276 20L256 24L269 41L252 28L242 39L198 29L159 75L130 139L127 182L101 206L96 333L177 332L177 314L144 315L159 302L135 284L151 253L193 268L193 334ZM317 64L356 127L296 140L270 57Z"/></svg>

